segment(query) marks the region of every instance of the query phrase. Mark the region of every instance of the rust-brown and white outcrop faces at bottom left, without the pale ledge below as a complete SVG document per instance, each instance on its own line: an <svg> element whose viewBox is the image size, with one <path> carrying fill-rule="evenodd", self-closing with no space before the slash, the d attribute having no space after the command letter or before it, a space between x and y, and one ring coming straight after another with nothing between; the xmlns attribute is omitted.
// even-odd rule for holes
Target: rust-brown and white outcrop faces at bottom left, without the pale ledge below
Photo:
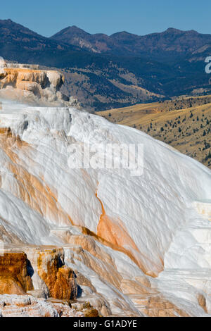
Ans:
<svg viewBox="0 0 211 331"><path fill-rule="evenodd" d="M76 299L77 282L64 265L63 249L25 247L0 256L0 294L26 294L54 299Z"/></svg>

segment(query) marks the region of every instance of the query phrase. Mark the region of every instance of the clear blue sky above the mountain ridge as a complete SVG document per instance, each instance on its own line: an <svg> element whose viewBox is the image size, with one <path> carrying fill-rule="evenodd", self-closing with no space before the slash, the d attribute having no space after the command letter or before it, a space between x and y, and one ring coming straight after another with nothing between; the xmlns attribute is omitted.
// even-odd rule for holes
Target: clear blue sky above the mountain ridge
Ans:
<svg viewBox="0 0 211 331"><path fill-rule="evenodd" d="M210 0L10 0L0 18L11 18L49 37L77 25L90 33L128 31L137 35L168 27L211 34Z"/></svg>

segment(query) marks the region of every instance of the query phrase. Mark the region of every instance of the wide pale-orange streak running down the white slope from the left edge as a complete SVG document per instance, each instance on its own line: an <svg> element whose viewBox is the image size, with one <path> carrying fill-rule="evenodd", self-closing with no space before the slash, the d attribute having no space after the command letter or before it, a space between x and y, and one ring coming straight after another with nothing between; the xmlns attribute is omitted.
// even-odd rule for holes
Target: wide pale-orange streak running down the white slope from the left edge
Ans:
<svg viewBox="0 0 211 331"><path fill-rule="evenodd" d="M11 130L6 129L2 130L3 136L0 139L0 146L11 160L7 167L13 173L17 185L13 194L25 201L41 216L47 216L50 220L60 220L66 225L73 224L72 219L60 206L56 194L52 192L49 185L46 185L42 178L32 175L20 165L18 155L13 152L13 147L30 149L30 145L23 142L19 136L11 135Z"/></svg>

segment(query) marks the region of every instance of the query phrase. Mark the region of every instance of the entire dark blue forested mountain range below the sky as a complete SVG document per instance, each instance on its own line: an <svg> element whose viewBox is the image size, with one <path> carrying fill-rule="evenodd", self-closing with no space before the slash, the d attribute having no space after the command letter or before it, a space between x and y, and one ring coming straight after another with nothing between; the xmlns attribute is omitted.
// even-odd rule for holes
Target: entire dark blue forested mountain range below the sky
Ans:
<svg viewBox="0 0 211 331"><path fill-rule="evenodd" d="M193 30L108 36L73 26L47 38L0 20L0 36L1 56L62 70L65 93L96 111L211 89L205 73L211 35Z"/></svg>

